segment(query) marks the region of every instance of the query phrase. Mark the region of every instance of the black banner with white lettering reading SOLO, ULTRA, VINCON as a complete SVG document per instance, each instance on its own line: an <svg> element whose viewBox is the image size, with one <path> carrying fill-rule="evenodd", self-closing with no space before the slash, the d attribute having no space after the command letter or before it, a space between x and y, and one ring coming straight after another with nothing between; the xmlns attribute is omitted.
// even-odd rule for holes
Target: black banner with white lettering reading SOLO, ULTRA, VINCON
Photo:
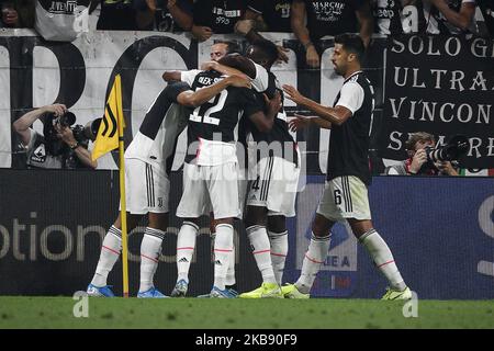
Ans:
<svg viewBox="0 0 494 351"><path fill-rule="evenodd" d="M434 134L438 146L464 135L465 168L494 167L492 41L404 35L386 49L380 154L405 159L408 133Z"/></svg>

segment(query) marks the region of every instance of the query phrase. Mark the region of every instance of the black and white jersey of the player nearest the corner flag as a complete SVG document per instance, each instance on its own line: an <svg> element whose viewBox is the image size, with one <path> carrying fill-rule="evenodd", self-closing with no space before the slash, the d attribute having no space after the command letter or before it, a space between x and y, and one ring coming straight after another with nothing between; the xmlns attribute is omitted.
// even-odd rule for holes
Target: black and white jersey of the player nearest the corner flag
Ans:
<svg viewBox="0 0 494 351"><path fill-rule="evenodd" d="M170 173L177 140L187 126L190 113L189 109L173 102L180 92L189 89L187 83L173 83L158 94L125 150L125 158L165 163L167 174Z"/></svg>

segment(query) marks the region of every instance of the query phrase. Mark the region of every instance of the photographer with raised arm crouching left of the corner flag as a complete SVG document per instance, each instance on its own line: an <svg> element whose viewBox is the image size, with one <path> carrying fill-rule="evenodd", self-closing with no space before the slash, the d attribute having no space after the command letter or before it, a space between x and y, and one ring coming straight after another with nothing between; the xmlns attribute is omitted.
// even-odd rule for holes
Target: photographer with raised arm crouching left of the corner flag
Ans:
<svg viewBox="0 0 494 351"><path fill-rule="evenodd" d="M36 120L43 122L43 135L32 128ZM74 122L75 115L59 103L33 110L15 121L13 128L26 148L27 168L96 169L98 162L88 151L89 139L76 138L70 128Z"/></svg>

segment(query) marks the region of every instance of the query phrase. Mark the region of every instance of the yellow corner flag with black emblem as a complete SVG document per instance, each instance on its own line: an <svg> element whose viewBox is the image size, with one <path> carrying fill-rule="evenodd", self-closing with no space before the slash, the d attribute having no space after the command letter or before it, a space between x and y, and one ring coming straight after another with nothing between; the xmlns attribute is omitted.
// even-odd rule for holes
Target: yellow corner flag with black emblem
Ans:
<svg viewBox="0 0 494 351"><path fill-rule="evenodd" d="M94 161L119 147L119 125L125 127L122 110L122 83L120 75L115 77L110 97L104 107L104 116L98 129L91 158ZM123 135L122 135L123 136Z"/></svg>

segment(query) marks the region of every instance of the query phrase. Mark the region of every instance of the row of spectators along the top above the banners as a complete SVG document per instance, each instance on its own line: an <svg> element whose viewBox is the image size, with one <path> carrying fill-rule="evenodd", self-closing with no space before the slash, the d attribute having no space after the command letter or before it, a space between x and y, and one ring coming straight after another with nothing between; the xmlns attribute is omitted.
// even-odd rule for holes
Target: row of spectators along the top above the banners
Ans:
<svg viewBox="0 0 494 351"><path fill-rule="evenodd" d="M74 3L74 1L70 1ZM366 45L372 33L492 35L494 5L489 0L2 0L0 27L36 27L45 5L56 15L77 15L87 7L97 30L191 32L198 41L213 34L294 33L316 65L316 39L360 32ZM198 11L200 9L200 11ZM314 50L313 50L314 49Z"/></svg>

